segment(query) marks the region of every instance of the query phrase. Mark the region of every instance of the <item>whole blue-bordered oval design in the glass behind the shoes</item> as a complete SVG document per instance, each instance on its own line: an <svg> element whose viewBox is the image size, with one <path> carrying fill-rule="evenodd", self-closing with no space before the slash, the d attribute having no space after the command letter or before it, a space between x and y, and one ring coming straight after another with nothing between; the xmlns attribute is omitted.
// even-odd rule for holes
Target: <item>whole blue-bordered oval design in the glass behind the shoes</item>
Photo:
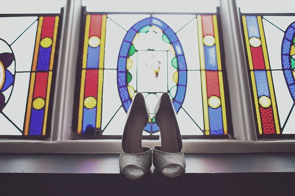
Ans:
<svg viewBox="0 0 295 196"><path fill-rule="evenodd" d="M176 86L173 93L169 92L169 90L168 92L173 94L174 108L176 112L179 111L185 97L187 83L187 68L183 49L176 33L167 24L158 18L148 17L139 21L127 31L119 50L117 85L119 97L126 113L134 94L134 92L130 93L129 90L133 88L129 84L133 76L128 71L132 66L131 56L137 54L144 59L138 65L145 67L145 69L141 69L144 70L144 73L141 71L136 73L137 83L140 80L140 83L143 84L140 91L147 92L148 96L146 98L151 100L152 98L148 98L151 96L150 94L167 91L167 85L162 85L164 82L160 79L162 75L165 76L163 79L169 77L167 68L166 70L164 68L166 65L161 57L167 56L164 51L173 55L170 62L167 60L166 63L176 69L176 72L170 75ZM151 115L153 114L151 113ZM153 119L153 116L150 119ZM159 128L155 122L150 120L145 130L147 132L157 132Z"/></svg>

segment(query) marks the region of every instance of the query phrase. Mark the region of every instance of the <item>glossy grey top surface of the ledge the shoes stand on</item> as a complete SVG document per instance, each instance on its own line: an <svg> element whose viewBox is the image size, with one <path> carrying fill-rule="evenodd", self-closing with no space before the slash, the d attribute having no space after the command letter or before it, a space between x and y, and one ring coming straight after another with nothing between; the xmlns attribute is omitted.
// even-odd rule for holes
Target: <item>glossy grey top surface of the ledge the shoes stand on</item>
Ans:
<svg viewBox="0 0 295 196"><path fill-rule="evenodd" d="M119 174L118 154L1 153L0 160L1 173ZM185 160L185 174L295 172L295 153L186 153Z"/></svg>

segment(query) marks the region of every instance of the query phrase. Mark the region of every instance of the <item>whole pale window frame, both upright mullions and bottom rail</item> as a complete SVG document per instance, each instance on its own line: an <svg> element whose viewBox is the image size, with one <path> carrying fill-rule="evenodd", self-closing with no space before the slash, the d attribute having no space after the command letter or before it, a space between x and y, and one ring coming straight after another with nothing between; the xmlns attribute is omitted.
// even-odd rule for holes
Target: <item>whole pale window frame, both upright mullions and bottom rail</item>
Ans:
<svg viewBox="0 0 295 196"><path fill-rule="evenodd" d="M121 140L72 140L75 76L82 0L67 0L60 37L51 135L45 141L0 139L0 153L118 153ZM225 66L235 139L183 139L185 153L295 152L295 140L257 139L236 0L220 0ZM143 140L144 146L160 140Z"/></svg>

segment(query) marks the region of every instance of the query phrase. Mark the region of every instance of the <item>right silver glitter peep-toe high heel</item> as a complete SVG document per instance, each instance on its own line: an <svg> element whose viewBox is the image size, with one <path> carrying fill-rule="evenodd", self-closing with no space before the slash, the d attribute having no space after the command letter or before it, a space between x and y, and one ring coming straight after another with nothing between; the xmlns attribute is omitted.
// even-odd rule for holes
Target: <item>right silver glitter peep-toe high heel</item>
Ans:
<svg viewBox="0 0 295 196"><path fill-rule="evenodd" d="M156 104L154 117L161 133L161 146L153 147L153 165L164 176L177 177L185 170L185 159L176 113L168 93L163 93Z"/></svg>

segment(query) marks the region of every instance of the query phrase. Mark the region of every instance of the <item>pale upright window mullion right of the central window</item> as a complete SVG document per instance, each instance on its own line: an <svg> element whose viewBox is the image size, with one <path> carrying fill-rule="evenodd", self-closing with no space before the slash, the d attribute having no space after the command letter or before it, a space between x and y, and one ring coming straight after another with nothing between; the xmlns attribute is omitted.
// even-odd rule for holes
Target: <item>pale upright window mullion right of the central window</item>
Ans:
<svg viewBox="0 0 295 196"><path fill-rule="evenodd" d="M220 17L229 82L234 136L256 141L254 116L249 93L246 61L242 47L236 1L220 1Z"/></svg>

